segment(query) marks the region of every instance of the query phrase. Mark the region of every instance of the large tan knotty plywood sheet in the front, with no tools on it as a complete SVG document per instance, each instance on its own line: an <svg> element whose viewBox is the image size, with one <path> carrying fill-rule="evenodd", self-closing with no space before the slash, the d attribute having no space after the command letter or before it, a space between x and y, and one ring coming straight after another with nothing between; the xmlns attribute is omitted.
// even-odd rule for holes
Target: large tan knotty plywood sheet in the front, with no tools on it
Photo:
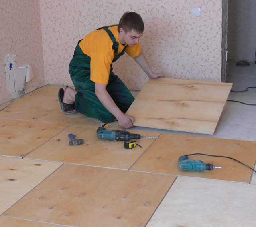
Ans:
<svg viewBox="0 0 256 227"><path fill-rule="evenodd" d="M3 216L77 227L142 227L174 179L64 164Z"/></svg>

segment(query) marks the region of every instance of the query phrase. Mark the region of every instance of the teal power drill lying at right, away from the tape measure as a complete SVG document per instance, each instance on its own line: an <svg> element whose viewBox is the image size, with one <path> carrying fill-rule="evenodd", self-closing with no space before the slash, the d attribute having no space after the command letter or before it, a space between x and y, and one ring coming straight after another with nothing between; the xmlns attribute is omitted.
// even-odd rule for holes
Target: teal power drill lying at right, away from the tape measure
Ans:
<svg viewBox="0 0 256 227"><path fill-rule="evenodd" d="M214 166L213 164L205 164L200 160L189 160L188 155L180 156L178 159L179 168L188 171L203 171L221 169L222 167Z"/></svg>

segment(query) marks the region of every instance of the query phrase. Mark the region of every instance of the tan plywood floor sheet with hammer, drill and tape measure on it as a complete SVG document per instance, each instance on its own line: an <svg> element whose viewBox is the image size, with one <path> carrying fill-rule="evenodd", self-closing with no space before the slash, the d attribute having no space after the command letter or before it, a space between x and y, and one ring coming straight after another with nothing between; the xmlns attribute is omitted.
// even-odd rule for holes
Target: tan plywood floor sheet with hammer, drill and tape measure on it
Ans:
<svg viewBox="0 0 256 227"><path fill-rule="evenodd" d="M94 127L71 125L27 155L26 158L128 169L155 140L142 138L137 140L142 148L137 146L133 149L125 149L123 141L98 139L96 135L98 126L100 124ZM108 129L121 128L112 125ZM85 143L69 146L69 133L77 135L77 139L84 139ZM131 133L142 134L138 131L132 131ZM143 135L157 137L159 133L145 132Z"/></svg>

